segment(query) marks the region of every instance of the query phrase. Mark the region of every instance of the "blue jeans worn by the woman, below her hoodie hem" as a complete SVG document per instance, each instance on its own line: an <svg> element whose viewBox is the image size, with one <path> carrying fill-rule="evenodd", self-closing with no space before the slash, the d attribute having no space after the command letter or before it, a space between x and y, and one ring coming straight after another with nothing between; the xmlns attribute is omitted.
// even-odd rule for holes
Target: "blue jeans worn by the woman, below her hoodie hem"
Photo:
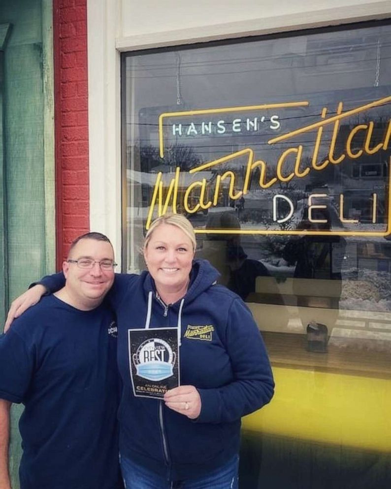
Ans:
<svg viewBox="0 0 391 489"><path fill-rule="evenodd" d="M208 475L184 481L167 481L151 470L121 457L121 471L126 489L238 489L239 456Z"/></svg>

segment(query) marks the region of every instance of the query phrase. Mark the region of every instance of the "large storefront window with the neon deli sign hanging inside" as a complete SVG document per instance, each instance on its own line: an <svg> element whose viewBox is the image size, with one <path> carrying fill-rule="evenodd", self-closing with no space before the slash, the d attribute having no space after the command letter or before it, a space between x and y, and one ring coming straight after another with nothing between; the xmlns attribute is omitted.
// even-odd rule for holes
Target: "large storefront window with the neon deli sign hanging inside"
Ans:
<svg viewBox="0 0 391 489"><path fill-rule="evenodd" d="M144 268L154 217L187 215L197 255L249 304L282 384L294 372L292 392L308 372L339 375L342 390L391 377L390 39L383 22L122 57L124 271ZM318 401L300 416L317 416ZM266 431L391 449L380 425L363 442L301 422L270 415Z"/></svg>

